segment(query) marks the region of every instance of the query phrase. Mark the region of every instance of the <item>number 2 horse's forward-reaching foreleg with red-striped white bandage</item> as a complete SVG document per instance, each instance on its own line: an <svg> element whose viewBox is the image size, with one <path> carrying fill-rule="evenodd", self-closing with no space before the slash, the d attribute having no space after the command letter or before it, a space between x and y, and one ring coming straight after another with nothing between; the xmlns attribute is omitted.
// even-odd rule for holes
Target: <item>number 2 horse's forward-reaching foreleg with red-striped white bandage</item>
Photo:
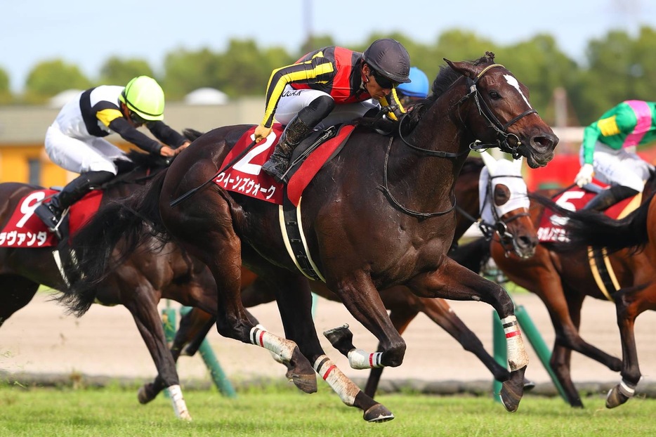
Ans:
<svg viewBox="0 0 656 437"><path fill-rule="evenodd" d="M524 393L524 372L528 355L524 348L512 299L499 285L486 280L452 259L445 259L433 273L421 275L411 282L416 294L459 301L484 301L497 311L506 334L510 378L501 385L501 402L506 410L515 412Z"/></svg>

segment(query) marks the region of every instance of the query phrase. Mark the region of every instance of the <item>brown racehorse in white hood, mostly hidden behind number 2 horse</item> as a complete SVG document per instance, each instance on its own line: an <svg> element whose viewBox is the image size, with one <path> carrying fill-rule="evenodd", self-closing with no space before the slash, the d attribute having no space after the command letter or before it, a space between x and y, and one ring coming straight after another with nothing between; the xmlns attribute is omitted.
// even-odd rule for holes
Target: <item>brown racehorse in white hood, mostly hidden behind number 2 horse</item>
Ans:
<svg viewBox="0 0 656 437"><path fill-rule="evenodd" d="M528 214L527 188L521 176L522 159L514 162L501 159L497 162L487 152L482 152L481 156L483 159L467 158L455 185L457 228L454 241L459 240L471 223L477 221L478 227L486 236L483 243L489 241L495 234L498 235L499 241L503 242L506 251L521 258L528 258L532 256L537 246L537 235ZM482 172L485 168L483 161L487 169ZM481 194L483 197L480 197ZM483 202L480 202L481 198ZM449 256L470 270L478 272L481 268L480 260L487 254L489 254L488 244L485 243L484 246L477 241L462 247L454 247ZM324 299L339 301L323 282L313 281L310 287L315 294ZM249 270L242 268L244 306L249 308L274 299L273 289L268 287L266 282L257 280ZM407 287L382 290L381 299L390 311L390 319L399 334L403 334L417 314L424 313L457 339L466 351L474 353L490 369L495 379L506 381L509 378L508 370L501 367L485 351L478 337L466 327L444 299L421 298L412 294ZM181 353L193 356L215 322L216 318L199 308L192 308L185 313L171 346L173 358L177 360ZM382 372L383 367L372 368L365 386L365 394L374 397ZM149 386L148 392L154 393L157 387L161 386L160 381L156 379ZM526 386L532 386L532 383L527 382L525 388Z"/></svg>

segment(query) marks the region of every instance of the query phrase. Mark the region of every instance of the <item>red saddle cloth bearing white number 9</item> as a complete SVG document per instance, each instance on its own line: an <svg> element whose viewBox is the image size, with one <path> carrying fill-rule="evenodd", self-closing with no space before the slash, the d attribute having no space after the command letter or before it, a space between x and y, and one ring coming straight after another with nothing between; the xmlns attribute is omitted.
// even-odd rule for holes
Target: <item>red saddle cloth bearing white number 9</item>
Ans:
<svg viewBox="0 0 656 437"><path fill-rule="evenodd" d="M56 246L59 243L58 237L34 214L34 209L39 203L55 193L56 190L50 189L34 190L22 197L0 231L0 247ZM67 223L63 223L63 228L68 228L71 234L75 233L93 214L96 214L101 200L103 200L101 190L93 190L86 194L72 205L69 214L64 218Z"/></svg>

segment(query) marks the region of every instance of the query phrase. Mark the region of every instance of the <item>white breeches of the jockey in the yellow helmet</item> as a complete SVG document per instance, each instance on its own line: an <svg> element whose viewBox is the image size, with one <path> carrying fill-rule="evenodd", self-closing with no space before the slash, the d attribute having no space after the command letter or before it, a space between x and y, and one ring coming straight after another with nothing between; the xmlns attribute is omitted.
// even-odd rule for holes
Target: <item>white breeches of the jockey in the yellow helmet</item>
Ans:
<svg viewBox="0 0 656 437"><path fill-rule="evenodd" d="M45 145L52 162L75 173L110 171L117 174L113 161L125 157L125 153L109 141L96 136L72 138L65 135L57 123L48 127Z"/></svg>

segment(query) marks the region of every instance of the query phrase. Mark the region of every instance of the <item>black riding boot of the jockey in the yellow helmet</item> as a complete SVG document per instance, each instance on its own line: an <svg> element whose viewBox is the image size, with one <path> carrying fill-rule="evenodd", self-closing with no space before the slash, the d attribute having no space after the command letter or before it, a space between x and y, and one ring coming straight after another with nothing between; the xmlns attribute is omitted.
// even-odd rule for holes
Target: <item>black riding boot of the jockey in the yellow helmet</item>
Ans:
<svg viewBox="0 0 656 437"><path fill-rule="evenodd" d="M74 178L62 188L62 190L51 197L50 202L43 203L34 209L34 214L46 223L49 229L57 228L62 219L62 214L72 204L80 200L91 188L101 185L114 174L111 171L88 171Z"/></svg>

